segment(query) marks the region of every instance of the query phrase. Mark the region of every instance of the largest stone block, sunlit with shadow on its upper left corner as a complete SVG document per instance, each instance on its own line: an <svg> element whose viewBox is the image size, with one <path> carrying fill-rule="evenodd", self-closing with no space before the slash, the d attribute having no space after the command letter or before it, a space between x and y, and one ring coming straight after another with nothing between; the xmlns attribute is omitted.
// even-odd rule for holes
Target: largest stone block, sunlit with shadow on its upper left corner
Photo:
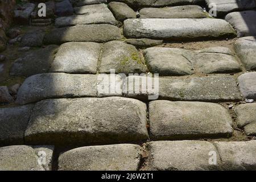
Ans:
<svg viewBox="0 0 256 182"><path fill-rule="evenodd" d="M65 146L138 142L148 138L146 125L146 104L130 98L44 100L35 104L25 140Z"/></svg>

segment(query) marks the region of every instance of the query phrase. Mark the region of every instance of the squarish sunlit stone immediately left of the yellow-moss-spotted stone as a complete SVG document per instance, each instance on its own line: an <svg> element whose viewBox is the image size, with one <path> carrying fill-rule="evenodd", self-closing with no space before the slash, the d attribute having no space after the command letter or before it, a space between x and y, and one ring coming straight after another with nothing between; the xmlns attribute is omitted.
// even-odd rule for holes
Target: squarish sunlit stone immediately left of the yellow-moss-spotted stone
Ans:
<svg viewBox="0 0 256 182"><path fill-rule="evenodd" d="M93 42L69 42L61 44L52 62L50 72L97 72L101 44Z"/></svg>

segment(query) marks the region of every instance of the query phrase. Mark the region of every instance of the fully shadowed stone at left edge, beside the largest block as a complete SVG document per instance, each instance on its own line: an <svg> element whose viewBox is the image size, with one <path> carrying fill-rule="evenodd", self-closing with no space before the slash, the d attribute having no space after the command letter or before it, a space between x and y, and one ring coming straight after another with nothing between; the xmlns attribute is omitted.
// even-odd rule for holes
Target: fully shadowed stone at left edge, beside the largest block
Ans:
<svg viewBox="0 0 256 182"><path fill-rule="evenodd" d="M33 105L6 107L0 109L0 146L23 144Z"/></svg>

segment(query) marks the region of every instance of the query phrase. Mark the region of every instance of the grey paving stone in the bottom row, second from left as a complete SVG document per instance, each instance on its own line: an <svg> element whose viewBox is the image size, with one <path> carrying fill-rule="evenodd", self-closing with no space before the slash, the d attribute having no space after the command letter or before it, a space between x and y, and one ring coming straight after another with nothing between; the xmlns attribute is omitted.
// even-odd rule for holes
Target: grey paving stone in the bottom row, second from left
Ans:
<svg viewBox="0 0 256 182"><path fill-rule="evenodd" d="M136 171L141 155L135 144L75 148L60 155L59 170Z"/></svg>

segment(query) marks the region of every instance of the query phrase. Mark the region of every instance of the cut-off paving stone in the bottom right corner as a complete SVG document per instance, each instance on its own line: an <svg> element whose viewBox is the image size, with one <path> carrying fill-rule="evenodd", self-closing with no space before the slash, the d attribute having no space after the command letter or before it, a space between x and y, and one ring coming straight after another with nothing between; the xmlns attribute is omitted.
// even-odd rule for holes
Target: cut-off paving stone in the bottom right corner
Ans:
<svg viewBox="0 0 256 182"><path fill-rule="evenodd" d="M224 170L256 170L256 140L214 142Z"/></svg>

